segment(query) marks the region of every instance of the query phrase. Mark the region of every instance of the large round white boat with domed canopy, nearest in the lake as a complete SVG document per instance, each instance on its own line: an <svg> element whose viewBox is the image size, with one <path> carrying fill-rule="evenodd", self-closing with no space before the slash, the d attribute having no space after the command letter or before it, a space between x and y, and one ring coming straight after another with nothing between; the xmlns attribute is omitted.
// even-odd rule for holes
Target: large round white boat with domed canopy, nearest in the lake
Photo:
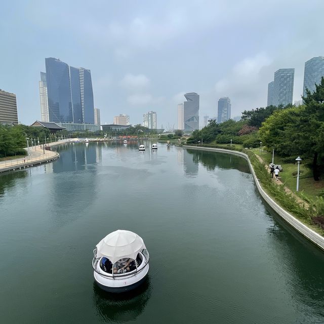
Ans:
<svg viewBox="0 0 324 324"><path fill-rule="evenodd" d="M107 292L132 290L147 275L149 254L143 239L136 233L118 229L104 237L93 253L95 280Z"/></svg>

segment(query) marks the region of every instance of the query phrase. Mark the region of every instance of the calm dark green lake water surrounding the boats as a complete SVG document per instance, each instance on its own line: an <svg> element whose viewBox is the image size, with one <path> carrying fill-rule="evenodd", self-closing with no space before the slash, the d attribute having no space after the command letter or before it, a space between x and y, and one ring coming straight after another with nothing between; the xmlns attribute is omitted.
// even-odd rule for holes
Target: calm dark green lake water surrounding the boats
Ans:
<svg viewBox="0 0 324 324"><path fill-rule="evenodd" d="M244 159L137 147L67 144L0 176L1 323L324 322L323 254L267 211ZM113 296L91 260L116 229L151 259Z"/></svg>

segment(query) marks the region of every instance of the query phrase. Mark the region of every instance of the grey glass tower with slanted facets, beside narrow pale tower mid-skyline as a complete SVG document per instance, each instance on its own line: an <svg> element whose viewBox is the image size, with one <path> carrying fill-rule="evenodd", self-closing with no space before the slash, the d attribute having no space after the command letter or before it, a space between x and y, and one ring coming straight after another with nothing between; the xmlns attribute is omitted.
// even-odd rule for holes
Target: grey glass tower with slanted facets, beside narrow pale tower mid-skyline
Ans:
<svg viewBox="0 0 324 324"><path fill-rule="evenodd" d="M195 92L184 94L183 102L184 131L199 130L199 95Z"/></svg>

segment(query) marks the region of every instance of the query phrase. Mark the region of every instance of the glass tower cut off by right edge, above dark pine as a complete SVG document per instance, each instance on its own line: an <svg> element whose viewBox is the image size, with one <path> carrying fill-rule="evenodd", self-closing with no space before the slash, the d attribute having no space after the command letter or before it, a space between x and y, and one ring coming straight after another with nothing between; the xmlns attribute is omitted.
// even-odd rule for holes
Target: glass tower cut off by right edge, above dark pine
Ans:
<svg viewBox="0 0 324 324"><path fill-rule="evenodd" d="M306 88L313 92L316 90L315 84L320 84L321 77L324 76L324 57L313 57L305 63L303 96L306 97Z"/></svg>

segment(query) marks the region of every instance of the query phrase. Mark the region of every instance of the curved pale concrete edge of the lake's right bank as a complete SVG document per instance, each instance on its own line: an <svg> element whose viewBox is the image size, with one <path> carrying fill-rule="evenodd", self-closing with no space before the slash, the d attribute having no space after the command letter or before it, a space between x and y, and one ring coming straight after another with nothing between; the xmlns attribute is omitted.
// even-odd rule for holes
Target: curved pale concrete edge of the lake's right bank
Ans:
<svg viewBox="0 0 324 324"><path fill-rule="evenodd" d="M294 228L296 231L298 231L300 234L302 234L305 238L307 238L309 241L311 241L314 245L316 245L319 249L324 251L324 237L310 229L308 226L303 224L301 221L299 221L296 217L288 213L286 210L281 208L275 201L263 190L263 188L260 185L260 182L254 172L253 166L251 164L251 161L249 159L249 156L245 153L239 152L239 151L232 151L222 148L212 148L212 147L198 147L198 146L189 146L189 145L183 145L181 147L185 148L193 148L198 150L205 150L205 151L216 151L216 152L223 152L223 153L229 153L234 155L239 155L244 157L249 164L249 168L251 171L251 174L253 175L255 184L257 186L257 189L259 193L261 194L262 198L266 201L269 207L282 219L284 219L292 228Z"/></svg>

